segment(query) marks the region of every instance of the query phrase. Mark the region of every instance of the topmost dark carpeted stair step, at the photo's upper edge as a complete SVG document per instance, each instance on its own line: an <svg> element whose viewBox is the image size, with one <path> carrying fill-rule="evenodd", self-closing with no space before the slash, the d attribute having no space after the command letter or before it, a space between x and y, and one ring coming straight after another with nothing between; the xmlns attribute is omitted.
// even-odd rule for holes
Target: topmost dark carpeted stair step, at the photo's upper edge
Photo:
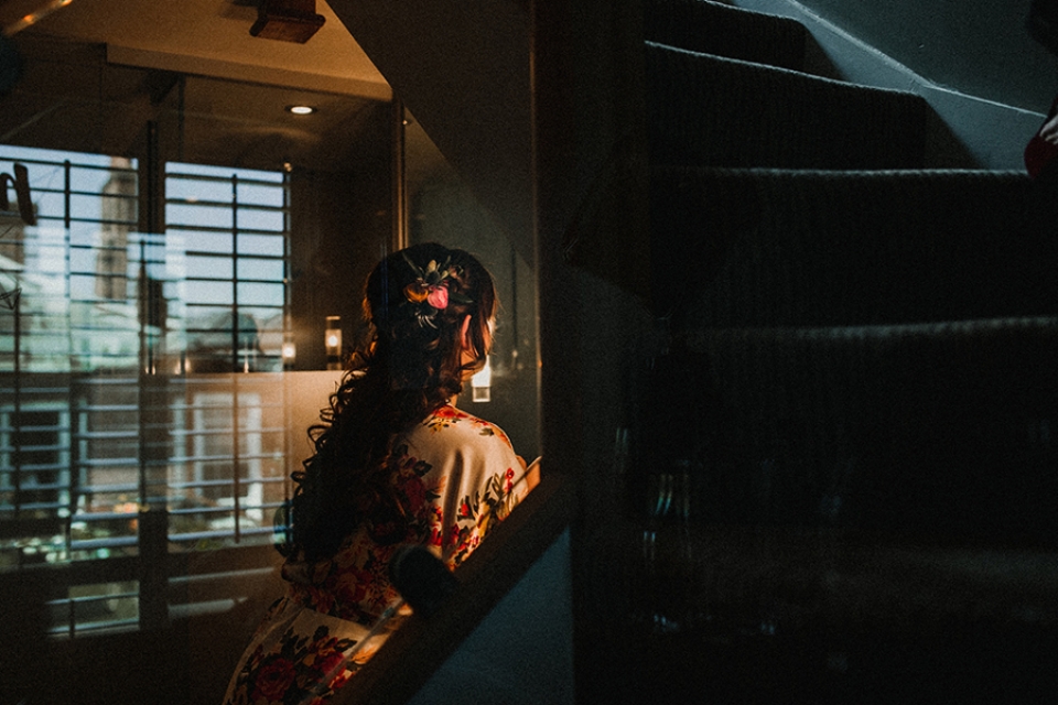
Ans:
<svg viewBox="0 0 1058 705"><path fill-rule="evenodd" d="M801 72L810 41L800 22L710 0L646 0L644 33L658 44Z"/></svg>

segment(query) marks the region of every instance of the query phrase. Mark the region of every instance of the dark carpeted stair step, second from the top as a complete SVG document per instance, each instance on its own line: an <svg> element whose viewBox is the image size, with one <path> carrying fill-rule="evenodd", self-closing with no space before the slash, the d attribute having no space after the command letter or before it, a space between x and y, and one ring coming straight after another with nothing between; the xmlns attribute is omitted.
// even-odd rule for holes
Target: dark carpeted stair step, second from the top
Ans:
<svg viewBox="0 0 1058 705"><path fill-rule="evenodd" d="M917 169L926 101L914 94L647 43L654 164Z"/></svg>

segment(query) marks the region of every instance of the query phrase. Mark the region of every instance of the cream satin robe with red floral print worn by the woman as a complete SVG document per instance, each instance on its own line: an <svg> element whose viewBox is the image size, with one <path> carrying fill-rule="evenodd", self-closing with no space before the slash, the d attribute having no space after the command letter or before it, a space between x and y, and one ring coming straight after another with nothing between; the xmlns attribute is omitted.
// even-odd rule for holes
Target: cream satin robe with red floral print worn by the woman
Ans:
<svg viewBox="0 0 1058 705"><path fill-rule="evenodd" d="M404 543L431 546L450 568L527 491L506 434L451 405L399 436L388 463L413 517ZM399 605L388 575L399 545L380 545L360 527L330 561L288 560L287 594L244 652L225 705L326 702L410 614L401 607L386 619Z"/></svg>

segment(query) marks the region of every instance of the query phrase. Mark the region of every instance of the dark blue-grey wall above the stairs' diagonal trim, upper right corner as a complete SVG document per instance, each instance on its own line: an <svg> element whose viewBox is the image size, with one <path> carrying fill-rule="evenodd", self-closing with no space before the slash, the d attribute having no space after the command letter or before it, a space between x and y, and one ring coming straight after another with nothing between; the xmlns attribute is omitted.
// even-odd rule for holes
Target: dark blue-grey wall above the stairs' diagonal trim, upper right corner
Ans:
<svg viewBox="0 0 1058 705"><path fill-rule="evenodd" d="M799 0L920 76L971 96L1046 112L1058 57L1025 29L1030 0Z"/></svg>

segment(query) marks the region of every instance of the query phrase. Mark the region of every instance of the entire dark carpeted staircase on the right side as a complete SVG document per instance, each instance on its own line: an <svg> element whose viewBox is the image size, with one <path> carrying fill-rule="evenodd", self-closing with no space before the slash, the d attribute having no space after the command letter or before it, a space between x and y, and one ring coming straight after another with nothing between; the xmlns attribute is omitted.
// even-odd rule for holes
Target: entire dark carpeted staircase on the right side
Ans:
<svg viewBox="0 0 1058 705"><path fill-rule="evenodd" d="M646 0L665 354L638 387L636 702L1046 702L1058 238L795 21ZM1049 218L1047 217L1049 216Z"/></svg>

